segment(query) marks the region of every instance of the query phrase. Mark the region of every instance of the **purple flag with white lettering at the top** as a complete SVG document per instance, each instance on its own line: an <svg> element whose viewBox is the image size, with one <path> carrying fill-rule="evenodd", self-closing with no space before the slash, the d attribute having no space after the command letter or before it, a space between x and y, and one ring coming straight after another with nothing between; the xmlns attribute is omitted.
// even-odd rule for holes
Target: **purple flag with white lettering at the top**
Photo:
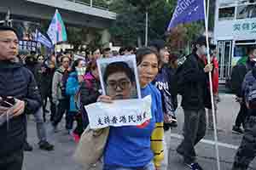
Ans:
<svg viewBox="0 0 256 170"><path fill-rule="evenodd" d="M205 0L178 0L168 31L182 23L205 19Z"/></svg>

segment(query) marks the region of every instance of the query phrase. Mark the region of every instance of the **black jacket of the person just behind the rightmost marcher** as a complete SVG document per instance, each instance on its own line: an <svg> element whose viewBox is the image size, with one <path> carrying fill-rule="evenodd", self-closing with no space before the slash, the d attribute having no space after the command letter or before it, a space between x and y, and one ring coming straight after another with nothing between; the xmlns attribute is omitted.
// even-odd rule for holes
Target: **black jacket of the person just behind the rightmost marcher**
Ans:
<svg viewBox="0 0 256 170"><path fill-rule="evenodd" d="M237 97L242 97L241 85L248 71L253 69L254 62L247 60L246 65L236 65L231 73L231 89Z"/></svg>

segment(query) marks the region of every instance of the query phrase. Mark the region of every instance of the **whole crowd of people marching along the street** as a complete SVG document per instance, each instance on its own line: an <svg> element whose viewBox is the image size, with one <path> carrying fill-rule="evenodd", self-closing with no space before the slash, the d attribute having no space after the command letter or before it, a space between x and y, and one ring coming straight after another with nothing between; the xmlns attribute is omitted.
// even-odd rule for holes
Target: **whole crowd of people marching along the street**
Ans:
<svg viewBox="0 0 256 170"><path fill-rule="evenodd" d="M18 45L15 29L1 26L0 169L21 170L23 150L32 150L26 142L28 114L35 117L40 149L54 150L54 145L47 139L45 122L49 121L53 132L58 133L64 115L67 135L79 143L89 125L84 105L112 103L114 99L111 94L102 95L96 60L131 54L137 59L141 95L152 97L152 118L141 126L110 127L103 152L103 169L168 169L171 128L177 127L177 94L182 96L184 112L184 139L178 145L177 153L183 156L184 164L190 169L203 169L196 160L195 145L204 138L207 128L213 130L209 72L212 73L215 113L219 101L216 46L210 46L211 63L207 64L206 37L199 37L193 42L193 51L182 64L163 40L149 42L145 48L120 48L119 52L111 48L94 48L79 59L74 59L70 53L48 57L35 53L24 56L19 54ZM237 101L241 104L233 131L243 133L241 124L246 129L233 170L246 170L255 156L255 58L256 48L251 48L247 63L235 67L232 74L239 75L232 81ZM122 91L134 82L134 77L124 64L118 66L114 69L124 73L126 82L109 82L110 77L115 77L111 68L107 68L108 77L103 79L109 88ZM15 102L11 104L10 99ZM11 106L6 106L6 103ZM208 127L206 109L209 113ZM9 111L11 116L5 116Z"/></svg>

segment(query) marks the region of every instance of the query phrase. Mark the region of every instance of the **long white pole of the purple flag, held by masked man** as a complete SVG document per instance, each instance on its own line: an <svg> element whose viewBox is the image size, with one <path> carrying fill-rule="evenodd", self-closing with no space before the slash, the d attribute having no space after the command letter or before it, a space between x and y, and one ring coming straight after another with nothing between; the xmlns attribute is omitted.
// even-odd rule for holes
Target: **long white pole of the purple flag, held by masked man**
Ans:
<svg viewBox="0 0 256 170"><path fill-rule="evenodd" d="M203 0L204 1L204 11L205 11L205 27L206 27L206 37L207 37L207 62L211 64L210 59L210 44L209 44L209 35L208 35L208 17L209 17L209 5L210 0ZM207 1L207 5L206 5ZM206 11L207 10L207 11ZM217 124L216 124L216 111L214 106L214 99L213 99L213 90L212 90L212 73L209 72L209 82L210 82L210 94L211 94L211 102L212 102L212 121L214 127L214 141L215 141L215 150L216 150L216 158L217 158L217 166L218 170L220 170L220 161L219 161L219 153L218 153L218 135L217 135Z"/></svg>

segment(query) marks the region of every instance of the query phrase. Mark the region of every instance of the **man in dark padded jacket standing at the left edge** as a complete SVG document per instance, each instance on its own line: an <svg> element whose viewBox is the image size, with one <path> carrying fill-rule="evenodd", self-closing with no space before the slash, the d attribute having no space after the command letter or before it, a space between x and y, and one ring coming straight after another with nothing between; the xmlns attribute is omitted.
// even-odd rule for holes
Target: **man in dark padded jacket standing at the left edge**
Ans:
<svg viewBox="0 0 256 170"><path fill-rule="evenodd" d="M15 63L18 48L16 31L0 26L0 97L15 99L10 108L0 106L0 116L8 112L11 117L0 124L0 169L8 170L21 170L26 113L34 113L42 103L32 72Z"/></svg>

